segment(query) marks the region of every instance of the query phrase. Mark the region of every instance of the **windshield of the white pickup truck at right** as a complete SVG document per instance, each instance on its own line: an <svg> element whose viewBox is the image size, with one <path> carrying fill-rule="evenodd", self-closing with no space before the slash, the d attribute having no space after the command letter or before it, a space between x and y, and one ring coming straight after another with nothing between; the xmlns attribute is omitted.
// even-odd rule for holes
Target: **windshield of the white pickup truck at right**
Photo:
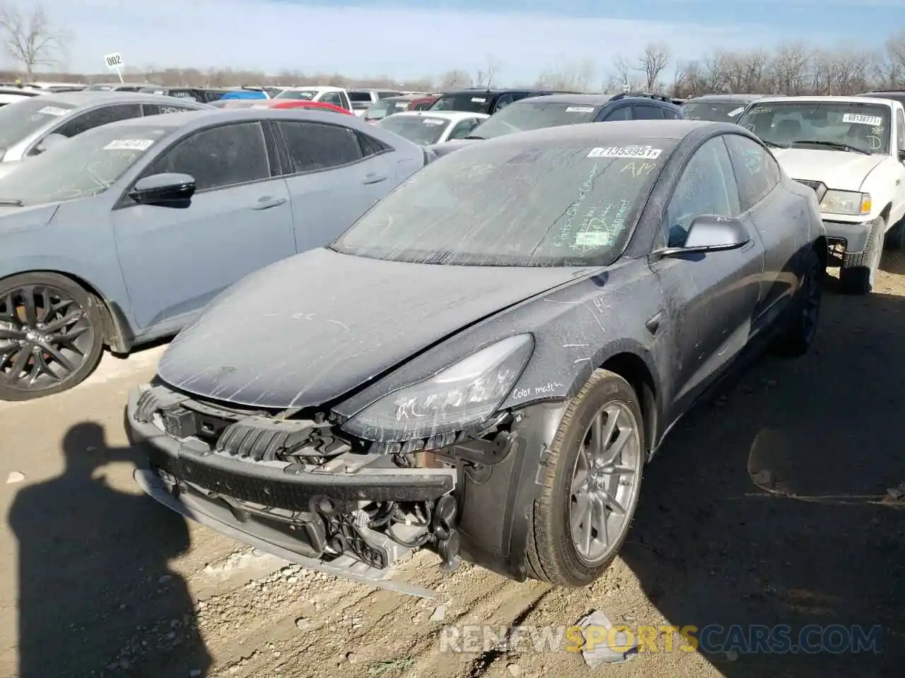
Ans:
<svg viewBox="0 0 905 678"><path fill-rule="evenodd" d="M891 109L847 101L768 101L738 118L767 144L886 155L890 152Z"/></svg>

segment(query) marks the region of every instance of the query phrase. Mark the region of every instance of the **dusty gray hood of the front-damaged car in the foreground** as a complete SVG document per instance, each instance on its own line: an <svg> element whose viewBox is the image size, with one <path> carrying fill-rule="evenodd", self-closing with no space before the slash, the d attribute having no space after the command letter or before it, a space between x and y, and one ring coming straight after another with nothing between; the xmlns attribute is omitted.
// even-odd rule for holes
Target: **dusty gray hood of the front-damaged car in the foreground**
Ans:
<svg viewBox="0 0 905 678"><path fill-rule="evenodd" d="M238 405L321 405L582 270L436 266L311 250L214 299L176 336L157 374Z"/></svg>

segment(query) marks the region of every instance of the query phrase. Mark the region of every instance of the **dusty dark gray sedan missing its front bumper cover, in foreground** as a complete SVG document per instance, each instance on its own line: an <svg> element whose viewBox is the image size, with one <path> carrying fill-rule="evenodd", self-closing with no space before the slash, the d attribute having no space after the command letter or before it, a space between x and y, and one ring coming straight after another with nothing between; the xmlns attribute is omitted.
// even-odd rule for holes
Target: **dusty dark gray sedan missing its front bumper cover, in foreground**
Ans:
<svg viewBox="0 0 905 678"><path fill-rule="evenodd" d="M748 130L556 127L447 155L216 298L130 394L157 501L313 569L427 548L586 585L644 464L743 358L814 339L814 192Z"/></svg>

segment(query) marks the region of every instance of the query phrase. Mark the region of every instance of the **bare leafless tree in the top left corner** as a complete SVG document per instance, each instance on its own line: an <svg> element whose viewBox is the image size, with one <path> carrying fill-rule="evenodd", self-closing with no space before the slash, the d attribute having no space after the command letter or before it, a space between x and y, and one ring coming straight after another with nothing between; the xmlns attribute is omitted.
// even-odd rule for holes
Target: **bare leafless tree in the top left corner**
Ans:
<svg viewBox="0 0 905 678"><path fill-rule="evenodd" d="M59 65L65 60L71 35L53 26L43 5L34 5L27 14L15 5L0 6L0 38L8 53L31 80L35 69Z"/></svg>

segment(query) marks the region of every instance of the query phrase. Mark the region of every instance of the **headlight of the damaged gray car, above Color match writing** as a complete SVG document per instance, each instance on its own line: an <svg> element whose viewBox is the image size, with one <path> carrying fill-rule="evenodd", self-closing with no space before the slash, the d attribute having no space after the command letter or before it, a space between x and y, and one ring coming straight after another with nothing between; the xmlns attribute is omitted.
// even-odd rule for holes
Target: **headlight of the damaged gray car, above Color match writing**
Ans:
<svg viewBox="0 0 905 678"><path fill-rule="evenodd" d="M516 334L472 353L430 379L388 393L342 428L378 442L429 438L488 419L518 381L534 351L531 334Z"/></svg>

